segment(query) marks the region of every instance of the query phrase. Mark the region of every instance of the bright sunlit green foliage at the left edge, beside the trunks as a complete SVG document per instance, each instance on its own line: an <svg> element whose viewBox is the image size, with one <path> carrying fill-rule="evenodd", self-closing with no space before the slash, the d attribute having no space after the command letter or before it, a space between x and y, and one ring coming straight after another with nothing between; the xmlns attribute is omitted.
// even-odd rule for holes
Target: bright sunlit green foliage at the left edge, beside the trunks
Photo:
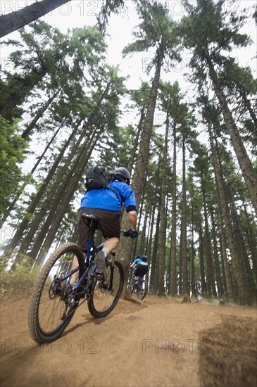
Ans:
<svg viewBox="0 0 257 387"><path fill-rule="evenodd" d="M27 143L20 137L17 120L9 122L0 116L0 125L0 212L4 213L25 179L19 164L24 160Z"/></svg>

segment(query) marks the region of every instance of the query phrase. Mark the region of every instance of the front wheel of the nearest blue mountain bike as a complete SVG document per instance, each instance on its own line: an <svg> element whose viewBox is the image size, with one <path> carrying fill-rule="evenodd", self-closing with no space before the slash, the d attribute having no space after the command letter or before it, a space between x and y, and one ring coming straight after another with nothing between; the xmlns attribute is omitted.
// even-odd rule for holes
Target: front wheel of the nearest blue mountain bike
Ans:
<svg viewBox="0 0 257 387"><path fill-rule="evenodd" d="M112 270L113 285L110 286ZM87 301L89 312L92 314L92 316L96 318L105 317L113 310L115 305L118 303L120 294L123 290L123 282L123 265L121 265L120 262L115 261L114 266L112 267L111 263L108 262L106 281L94 277L92 282L92 291Z"/></svg>

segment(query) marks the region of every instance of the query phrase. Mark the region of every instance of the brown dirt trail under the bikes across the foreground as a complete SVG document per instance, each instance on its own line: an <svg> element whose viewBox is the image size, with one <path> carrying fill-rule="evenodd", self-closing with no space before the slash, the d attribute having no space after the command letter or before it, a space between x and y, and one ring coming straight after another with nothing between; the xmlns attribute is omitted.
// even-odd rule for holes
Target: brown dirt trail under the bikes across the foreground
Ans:
<svg viewBox="0 0 257 387"><path fill-rule="evenodd" d="M1 387L256 386L256 310L120 300L104 319L84 303L63 336L37 345L30 299L1 299Z"/></svg>

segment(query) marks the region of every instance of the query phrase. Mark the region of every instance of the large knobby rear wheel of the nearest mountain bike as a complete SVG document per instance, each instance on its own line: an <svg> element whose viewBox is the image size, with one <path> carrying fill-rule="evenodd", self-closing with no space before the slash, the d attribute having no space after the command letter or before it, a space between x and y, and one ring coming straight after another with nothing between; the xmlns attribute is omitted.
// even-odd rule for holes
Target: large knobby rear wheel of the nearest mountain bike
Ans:
<svg viewBox="0 0 257 387"><path fill-rule="evenodd" d="M75 267L79 270L63 279ZM30 336L37 343L56 340L73 318L78 302L71 294L71 283L76 283L84 272L84 255L75 243L57 248L42 267L33 288L28 325Z"/></svg>

